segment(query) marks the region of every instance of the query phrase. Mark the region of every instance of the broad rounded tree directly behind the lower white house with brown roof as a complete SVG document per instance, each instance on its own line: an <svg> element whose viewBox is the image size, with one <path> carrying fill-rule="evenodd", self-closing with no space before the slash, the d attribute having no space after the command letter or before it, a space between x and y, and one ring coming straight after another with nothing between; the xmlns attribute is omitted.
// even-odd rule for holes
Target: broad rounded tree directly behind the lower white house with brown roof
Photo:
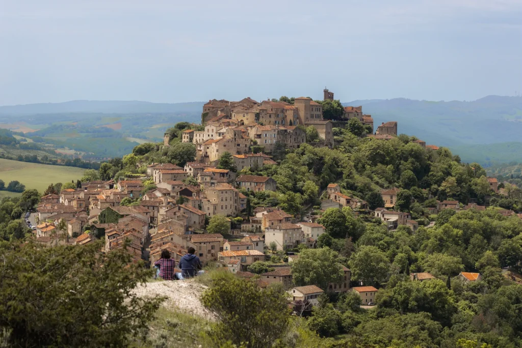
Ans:
<svg viewBox="0 0 522 348"><path fill-rule="evenodd" d="M327 290L330 283L340 284L344 273L338 263L338 254L328 247L305 249L292 262L292 279L298 285L317 285Z"/></svg>

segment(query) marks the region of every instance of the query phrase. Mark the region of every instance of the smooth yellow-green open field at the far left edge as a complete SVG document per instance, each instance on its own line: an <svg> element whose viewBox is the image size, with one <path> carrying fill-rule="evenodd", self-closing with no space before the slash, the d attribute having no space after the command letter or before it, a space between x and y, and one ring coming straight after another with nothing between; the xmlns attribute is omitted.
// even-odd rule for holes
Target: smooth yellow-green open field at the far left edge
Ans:
<svg viewBox="0 0 522 348"><path fill-rule="evenodd" d="M51 183L76 181L84 175L84 172L85 169L77 167L0 159L0 179L5 182L5 186L10 181L18 180L26 185L26 188L35 188L40 193L43 193Z"/></svg>

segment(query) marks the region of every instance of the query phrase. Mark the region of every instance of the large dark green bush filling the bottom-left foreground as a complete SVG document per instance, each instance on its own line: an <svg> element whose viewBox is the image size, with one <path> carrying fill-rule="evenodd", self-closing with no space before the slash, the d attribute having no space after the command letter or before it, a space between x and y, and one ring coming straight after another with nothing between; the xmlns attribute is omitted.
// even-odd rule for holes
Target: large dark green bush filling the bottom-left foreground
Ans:
<svg viewBox="0 0 522 348"><path fill-rule="evenodd" d="M126 347L145 332L163 297L132 290L150 270L124 248L100 254L101 246L29 242L0 251L0 325L10 331L8 346Z"/></svg>

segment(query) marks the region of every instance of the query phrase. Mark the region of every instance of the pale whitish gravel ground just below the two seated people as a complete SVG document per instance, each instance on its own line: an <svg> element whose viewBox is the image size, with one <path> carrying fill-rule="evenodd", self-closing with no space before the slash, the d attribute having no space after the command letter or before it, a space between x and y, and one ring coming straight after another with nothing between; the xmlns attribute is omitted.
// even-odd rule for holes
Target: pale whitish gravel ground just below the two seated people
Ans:
<svg viewBox="0 0 522 348"><path fill-rule="evenodd" d="M215 320L213 314L207 310L199 298L207 289L205 285L194 280L154 281L138 285L135 289L139 296L167 296L163 306L167 309L177 309L209 320Z"/></svg>

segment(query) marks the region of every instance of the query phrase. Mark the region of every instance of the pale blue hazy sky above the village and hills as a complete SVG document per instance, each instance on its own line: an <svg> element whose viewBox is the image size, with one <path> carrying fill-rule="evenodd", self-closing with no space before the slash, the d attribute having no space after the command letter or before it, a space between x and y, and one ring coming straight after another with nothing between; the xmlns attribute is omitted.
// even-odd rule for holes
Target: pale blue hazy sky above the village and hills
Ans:
<svg viewBox="0 0 522 348"><path fill-rule="evenodd" d="M0 0L0 105L474 100L522 90L522 0Z"/></svg>

